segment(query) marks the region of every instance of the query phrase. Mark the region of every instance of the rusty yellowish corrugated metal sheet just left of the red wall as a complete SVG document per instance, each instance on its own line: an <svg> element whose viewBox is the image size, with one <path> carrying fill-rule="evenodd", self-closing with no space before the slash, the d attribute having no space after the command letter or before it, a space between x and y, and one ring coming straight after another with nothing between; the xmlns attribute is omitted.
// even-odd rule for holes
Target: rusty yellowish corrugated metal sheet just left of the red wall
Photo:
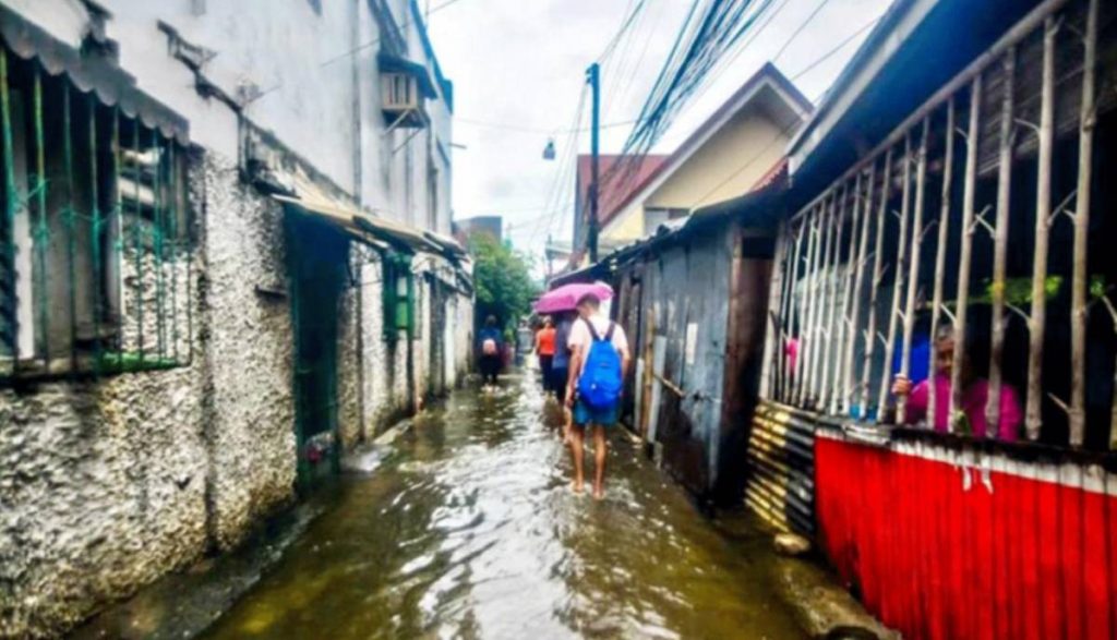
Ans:
<svg viewBox="0 0 1117 640"><path fill-rule="evenodd" d="M814 534L814 420L762 401L748 436L745 504L780 531Z"/></svg>

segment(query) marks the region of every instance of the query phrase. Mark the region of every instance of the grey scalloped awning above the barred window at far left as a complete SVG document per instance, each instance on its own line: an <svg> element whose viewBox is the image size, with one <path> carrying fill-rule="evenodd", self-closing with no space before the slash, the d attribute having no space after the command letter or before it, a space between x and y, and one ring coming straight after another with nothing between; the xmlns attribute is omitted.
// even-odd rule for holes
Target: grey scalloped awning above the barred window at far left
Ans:
<svg viewBox="0 0 1117 640"><path fill-rule="evenodd" d="M118 106L126 116L139 118L145 126L157 128L181 144L190 142L187 120L141 92L135 78L109 56L83 55L2 3L0 38L16 56L34 59L51 76L65 74L78 90L96 93L103 104Z"/></svg>

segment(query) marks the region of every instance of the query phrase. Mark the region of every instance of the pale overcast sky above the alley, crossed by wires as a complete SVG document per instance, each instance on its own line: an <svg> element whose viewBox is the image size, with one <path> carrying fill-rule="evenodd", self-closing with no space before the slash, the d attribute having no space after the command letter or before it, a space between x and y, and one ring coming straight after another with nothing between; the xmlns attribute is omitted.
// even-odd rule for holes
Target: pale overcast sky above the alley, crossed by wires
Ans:
<svg viewBox="0 0 1117 640"><path fill-rule="evenodd" d="M420 0L423 6L426 0ZM455 85L455 218L500 214L514 245L542 252L547 235L570 238L573 173L560 162L585 68L636 0L459 0L430 15L439 63ZM602 123L633 120L678 34L690 0L647 0L602 69ZM890 0L777 0L771 21L733 51L707 90L681 113L658 152L668 153L766 60L812 102L827 90ZM440 2L430 0L431 7ZM821 9L819 10L819 8ZM808 18L814 17L806 22ZM777 12L776 12L777 11ZM763 19L761 22L763 23ZM805 22L793 40L789 39ZM857 36L830 54L842 41ZM732 60L732 64L729 64ZM589 123L589 106L582 125ZM605 127L602 153L620 151L631 125ZM542 157L554 137L558 160ZM577 151L589 151L579 134ZM561 180L561 184L556 184ZM556 187L561 187L555 195ZM550 202L548 202L550 200ZM550 206L550 207L548 207Z"/></svg>

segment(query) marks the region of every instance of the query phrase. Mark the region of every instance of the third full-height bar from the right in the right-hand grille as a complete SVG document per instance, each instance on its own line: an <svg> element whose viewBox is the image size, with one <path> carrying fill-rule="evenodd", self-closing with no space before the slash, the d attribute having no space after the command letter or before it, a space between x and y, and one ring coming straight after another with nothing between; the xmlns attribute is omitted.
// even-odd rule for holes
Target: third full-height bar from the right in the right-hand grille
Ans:
<svg viewBox="0 0 1117 640"><path fill-rule="evenodd" d="M1009 265L1009 208L1012 199L1012 155L1015 147L1015 93L1016 49L1004 54L1004 87L1001 96L1001 149L996 179L996 228L993 233L993 327L989 355L989 401L985 404L984 436L995 438L1001 424L1001 360L1004 355L1004 279Z"/></svg>

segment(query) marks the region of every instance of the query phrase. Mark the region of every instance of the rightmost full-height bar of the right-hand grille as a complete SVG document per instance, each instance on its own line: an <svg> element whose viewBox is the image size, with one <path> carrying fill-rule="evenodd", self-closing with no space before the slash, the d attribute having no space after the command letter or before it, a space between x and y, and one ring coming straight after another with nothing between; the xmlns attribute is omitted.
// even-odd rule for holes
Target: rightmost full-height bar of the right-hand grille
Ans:
<svg viewBox="0 0 1117 640"><path fill-rule="evenodd" d="M1070 317L1070 443L1086 437L1087 265L1090 232L1090 188L1094 171L1094 127L1097 121L1098 0L1089 0L1082 54L1082 104L1078 132L1078 195L1075 212L1075 267Z"/></svg>

